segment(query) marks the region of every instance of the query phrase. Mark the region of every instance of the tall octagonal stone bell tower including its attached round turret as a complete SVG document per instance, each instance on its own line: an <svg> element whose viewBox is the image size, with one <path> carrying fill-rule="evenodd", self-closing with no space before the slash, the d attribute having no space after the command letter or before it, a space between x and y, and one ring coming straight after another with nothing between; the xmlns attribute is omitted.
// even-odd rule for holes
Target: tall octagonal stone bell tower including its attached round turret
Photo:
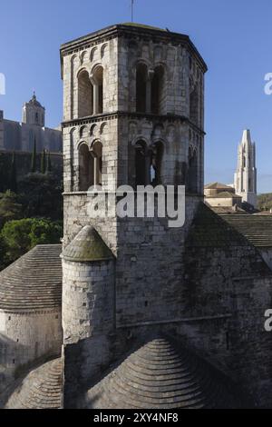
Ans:
<svg viewBox="0 0 272 427"><path fill-rule="evenodd" d="M182 311L184 239L203 194L203 59L187 35L112 25L61 48L64 405L154 324ZM101 184L186 185L186 224L95 218ZM166 273L165 265L168 265Z"/></svg>

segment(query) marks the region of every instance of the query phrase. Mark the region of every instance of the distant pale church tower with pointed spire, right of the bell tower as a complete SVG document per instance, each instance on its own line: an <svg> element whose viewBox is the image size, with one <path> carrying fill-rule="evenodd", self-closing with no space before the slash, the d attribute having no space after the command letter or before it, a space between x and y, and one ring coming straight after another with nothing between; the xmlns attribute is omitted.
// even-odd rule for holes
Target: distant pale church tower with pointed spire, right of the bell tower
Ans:
<svg viewBox="0 0 272 427"><path fill-rule="evenodd" d="M250 131L245 130L238 145L238 168L234 175L236 193L243 202L257 206L256 146L251 142Z"/></svg>

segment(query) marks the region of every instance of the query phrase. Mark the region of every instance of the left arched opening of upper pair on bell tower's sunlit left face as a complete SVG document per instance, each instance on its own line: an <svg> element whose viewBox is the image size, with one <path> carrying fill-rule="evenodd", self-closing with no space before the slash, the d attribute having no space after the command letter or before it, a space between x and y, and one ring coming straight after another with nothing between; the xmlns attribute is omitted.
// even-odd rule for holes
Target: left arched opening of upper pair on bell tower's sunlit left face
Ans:
<svg viewBox="0 0 272 427"><path fill-rule="evenodd" d="M78 75L78 116L93 114L93 87L89 73L83 70Z"/></svg>

